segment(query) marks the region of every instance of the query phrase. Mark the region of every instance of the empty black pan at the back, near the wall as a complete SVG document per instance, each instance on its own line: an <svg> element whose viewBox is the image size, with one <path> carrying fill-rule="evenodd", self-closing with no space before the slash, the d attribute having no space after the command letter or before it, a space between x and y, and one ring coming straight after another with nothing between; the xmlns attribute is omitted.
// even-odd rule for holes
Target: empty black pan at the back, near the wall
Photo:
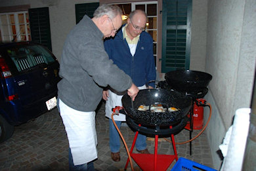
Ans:
<svg viewBox="0 0 256 171"><path fill-rule="evenodd" d="M165 73L169 86L181 92L206 88L213 77L209 73L192 70L176 70Z"/></svg>

